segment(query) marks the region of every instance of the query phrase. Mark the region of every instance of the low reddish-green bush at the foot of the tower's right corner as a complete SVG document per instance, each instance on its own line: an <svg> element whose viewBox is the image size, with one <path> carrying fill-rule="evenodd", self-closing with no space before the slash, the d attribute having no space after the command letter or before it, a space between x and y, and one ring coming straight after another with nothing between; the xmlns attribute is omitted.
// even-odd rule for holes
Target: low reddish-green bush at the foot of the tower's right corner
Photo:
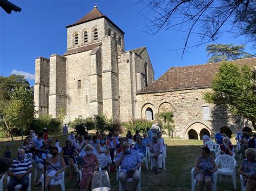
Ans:
<svg viewBox="0 0 256 191"><path fill-rule="evenodd" d="M122 125L125 126L127 130L131 131L132 134L134 134L136 130L138 130L140 133L146 132L146 128L151 128L153 123L153 121L147 121L144 119L134 119L132 121L123 123Z"/></svg>

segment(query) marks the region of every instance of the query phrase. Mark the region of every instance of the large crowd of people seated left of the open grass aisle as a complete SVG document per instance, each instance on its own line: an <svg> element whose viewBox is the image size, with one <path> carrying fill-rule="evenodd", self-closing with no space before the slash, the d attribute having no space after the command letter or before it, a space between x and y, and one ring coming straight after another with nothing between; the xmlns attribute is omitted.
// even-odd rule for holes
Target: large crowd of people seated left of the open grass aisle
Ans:
<svg viewBox="0 0 256 191"><path fill-rule="evenodd" d="M67 135L66 129L63 136ZM143 137L142 137L143 136ZM77 186L82 190L90 190L93 174L97 169L116 171L119 169L119 180L125 190L130 190L126 179L133 178L132 190L138 185L140 179L139 168L146 157L146 150L151 152L153 162L152 172L161 172L162 160L164 157L164 139L161 132L153 133L149 128L147 132L140 135L136 131L134 136L128 131L126 137L120 137L118 132L109 132L106 137L96 133L91 138L86 132L85 135L75 135L74 132L65 140L65 146L60 146L56 139L55 146L52 146L51 138L48 137L47 129L38 136L31 130L30 136L26 137L24 143L19 147L17 159L14 159L9 168L10 181L8 190L15 190L16 185L22 185L21 190L28 189L29 174L33 165L41 175L35 178L36 186L41 187L44 182L45 161L46 164L45 185L49 190L54 190L55 182L62 179L62 172L69 169L69 180L72 180L74 172L82 171L82 181L77 173ZM10 158L10 145L6 146L5 157ZM33 148L33 149L31 149ZM36 151L35 149L38 149ZM35 151L38 154L35 154ZM78 158L84 163L80 163ZM110 168L111 167L111 168Z"/></svg>

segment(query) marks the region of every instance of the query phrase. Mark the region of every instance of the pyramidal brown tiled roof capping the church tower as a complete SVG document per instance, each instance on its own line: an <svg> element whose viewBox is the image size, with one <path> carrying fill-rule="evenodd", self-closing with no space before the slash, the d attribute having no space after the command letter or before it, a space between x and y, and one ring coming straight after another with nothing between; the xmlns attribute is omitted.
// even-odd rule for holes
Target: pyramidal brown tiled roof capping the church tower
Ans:
<svg viewBox="0 0 256 191"><path fill-rule="evenodd" d="M76 23L73 23L71 25L66 26L66 28L69 28L71 26L76 26L82 23L90 22L91 20L99 19L99 18L105 18L107 19L112 25L116 26L119 31L121 31L124 34L124 31L122 31L116 24L114 24L109 18L107 18L105 15L103 15L102 12L100 12L95 6L89 13L87 13L84 17L79 19Z"/></svg>

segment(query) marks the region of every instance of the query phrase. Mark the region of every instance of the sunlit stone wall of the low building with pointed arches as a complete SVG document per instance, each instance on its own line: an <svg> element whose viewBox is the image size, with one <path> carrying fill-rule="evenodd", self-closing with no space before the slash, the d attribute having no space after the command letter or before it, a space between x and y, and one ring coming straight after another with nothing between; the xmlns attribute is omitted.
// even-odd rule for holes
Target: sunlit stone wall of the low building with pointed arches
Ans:
<svg viewBox="0 0 256 191"><path fill-rule="evenodd" d="M216 107L203 100L203 93L210 89L191 89L165 93L138 94L136 96L136 118L145 119L145 110L151 108L153 116L160 111L173 111L176 136L188 138L194 129L198 135L206 129L212 135L226 126L232 133L248 124L240 116L232 116L223 107ZM209 118L205 119L203 107L209 107Z"/></svg>

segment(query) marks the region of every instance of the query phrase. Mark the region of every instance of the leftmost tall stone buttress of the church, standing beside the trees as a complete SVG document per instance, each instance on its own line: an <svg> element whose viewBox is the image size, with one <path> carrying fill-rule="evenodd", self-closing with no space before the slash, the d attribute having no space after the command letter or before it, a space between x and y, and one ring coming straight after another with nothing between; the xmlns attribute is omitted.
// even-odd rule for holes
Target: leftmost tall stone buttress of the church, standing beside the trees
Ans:
<svg viewBox="0 0 256 191"><path fill-rule="evenodd" d="M40 56L35 65L34 102L38 117L48 114L50 60Z"/></svg>

